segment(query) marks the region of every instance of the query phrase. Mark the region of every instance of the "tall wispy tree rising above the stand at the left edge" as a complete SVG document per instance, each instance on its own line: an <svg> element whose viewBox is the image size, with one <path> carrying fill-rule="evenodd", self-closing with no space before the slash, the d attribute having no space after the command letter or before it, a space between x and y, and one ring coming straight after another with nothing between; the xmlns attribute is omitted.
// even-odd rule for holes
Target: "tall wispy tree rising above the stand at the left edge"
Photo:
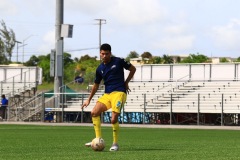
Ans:
<svg viewBox="0 0 240 160"><path fill-rule="evenodd" d="M3 20L1 21L1 26L2 28L0 29L0 41L2 42L1 42L0 54L1 54L1 57L4 57L4 56L9 57L9 62L11 62L12 51L16 43L15 33L12 29L7 28Z"/></svg>

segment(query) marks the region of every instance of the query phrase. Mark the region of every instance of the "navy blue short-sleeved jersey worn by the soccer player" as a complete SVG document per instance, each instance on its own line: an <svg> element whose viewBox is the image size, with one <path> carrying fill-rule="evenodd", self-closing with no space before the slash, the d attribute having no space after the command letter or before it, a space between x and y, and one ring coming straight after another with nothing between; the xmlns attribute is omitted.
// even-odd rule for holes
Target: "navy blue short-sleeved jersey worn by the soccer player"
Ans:
<svg viewBox="0 0 240 160"><path fill-rule="evenodd" d="M107 64L101 63L96 70L95 83L100 84L104 81L105 93L121 91L126 93L124 68L129 69L131 63L122 58L111 57Z"/></svg>

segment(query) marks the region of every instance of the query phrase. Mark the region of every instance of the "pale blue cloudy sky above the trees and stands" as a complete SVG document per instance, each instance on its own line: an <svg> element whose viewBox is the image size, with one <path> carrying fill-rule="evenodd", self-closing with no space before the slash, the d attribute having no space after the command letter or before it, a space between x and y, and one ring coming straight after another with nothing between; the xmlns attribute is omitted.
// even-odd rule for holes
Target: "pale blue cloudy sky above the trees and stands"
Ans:
<svg viewBox="0 0 240 160"><path fill-rule="evenodd" d="M131 51L153 56L204 54L240 56L239 0L65 0L64 23L74 25L64 50L96 48L102 42L115 56ZM55 48L55 0L0 0L0 19L25 40L24 61ZM19 59L22 60L19 48ZM98 56L98 49L70 52L72 58ZM16 59L16 48L12 60Z"/></svg>

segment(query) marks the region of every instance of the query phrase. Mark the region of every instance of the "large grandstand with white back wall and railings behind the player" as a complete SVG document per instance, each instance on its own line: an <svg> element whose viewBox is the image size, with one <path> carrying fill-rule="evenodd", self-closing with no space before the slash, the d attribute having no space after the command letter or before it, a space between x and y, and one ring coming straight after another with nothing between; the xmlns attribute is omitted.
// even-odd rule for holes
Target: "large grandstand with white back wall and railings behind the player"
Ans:
<svg viewBox="0 0 240 160"><path fill-rule="evenodd" d="M239 64L139 65L129 83L131 89L119 118L120 123L239 125ZM128 74L128 71L125 71ZM91 87L91 85L89 86ZM23 106L22 121L46 121L61 112L65 122L91 122L90 112L104 93L101 86L90 105L82 103L89 92L42 94ZM55 108L58 103L59 108ZM111 110L102 114L110 123Z"/></svg>

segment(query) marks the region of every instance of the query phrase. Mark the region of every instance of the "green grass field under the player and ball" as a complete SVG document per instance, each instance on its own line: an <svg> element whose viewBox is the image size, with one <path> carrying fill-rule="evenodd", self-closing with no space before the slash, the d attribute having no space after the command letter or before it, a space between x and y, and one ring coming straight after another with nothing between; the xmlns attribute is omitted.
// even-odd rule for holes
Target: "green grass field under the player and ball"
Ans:
<svg viewBox="0 0 240 160"><path fill-rule="evenodd" d="M102 128L105 150L95 152L84 146L94 137L93 127L0 124L0 159L240 159L240 132L236 130L120 129L118 152L108 151L111 127Z"/></svg>

